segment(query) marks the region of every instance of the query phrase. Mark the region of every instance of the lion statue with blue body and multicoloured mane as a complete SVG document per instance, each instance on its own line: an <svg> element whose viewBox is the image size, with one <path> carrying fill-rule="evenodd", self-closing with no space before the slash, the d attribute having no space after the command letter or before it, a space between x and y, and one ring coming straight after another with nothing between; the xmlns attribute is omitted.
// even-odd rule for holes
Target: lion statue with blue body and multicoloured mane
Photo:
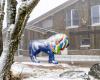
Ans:
<svg viewBox="0 0 100 80"><path fill-rule="evenodd" d="M55 34L45 40L31 41L29 44L29 55L33 62L39 63L36 56L42 51L49 55L49 63L58 64L54 55L59 54L61 50L64 50L69 46L68 37L63 34Z"/></svg>

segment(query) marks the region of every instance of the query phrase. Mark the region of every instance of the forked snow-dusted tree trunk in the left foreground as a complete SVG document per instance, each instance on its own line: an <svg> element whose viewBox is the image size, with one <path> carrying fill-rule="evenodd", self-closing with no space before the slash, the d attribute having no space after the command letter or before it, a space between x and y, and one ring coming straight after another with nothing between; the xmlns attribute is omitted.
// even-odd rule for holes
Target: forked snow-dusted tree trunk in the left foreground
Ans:
<svg viewBox="0 0 100 80"><path fill-rule="evenodd" d="M18 13L15 18L15 1L16 0L8 0L7 13L9 11L11 11L11 13L7 14L7 16L9 16L7 18L7 26L9 27L9 29L7 33L8 36L6 37L6 46L0 59L0 65L2 65L2 67L0 68L0 80L11 80L10 69L11 65L14 62L14 54L18 48L18 43L20 41L29 15L32 12L32 9L39 2L39 0L24 0L21 3L21 6L19 7Z"/></svg>

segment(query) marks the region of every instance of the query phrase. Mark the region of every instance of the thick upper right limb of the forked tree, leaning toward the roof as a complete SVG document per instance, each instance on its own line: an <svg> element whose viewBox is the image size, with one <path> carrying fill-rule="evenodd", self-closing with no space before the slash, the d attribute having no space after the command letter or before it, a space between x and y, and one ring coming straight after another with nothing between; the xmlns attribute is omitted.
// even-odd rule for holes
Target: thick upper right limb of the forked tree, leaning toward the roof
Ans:
<svg viewBox="0 0 100 80"><path fill-rule="evenodd" d="M12 34L12 39L15 39L14 35L16 35L17 38L21 36L29 15L38 2L39 0L27 0L20 3L16 15L16 23Z"/></svg>

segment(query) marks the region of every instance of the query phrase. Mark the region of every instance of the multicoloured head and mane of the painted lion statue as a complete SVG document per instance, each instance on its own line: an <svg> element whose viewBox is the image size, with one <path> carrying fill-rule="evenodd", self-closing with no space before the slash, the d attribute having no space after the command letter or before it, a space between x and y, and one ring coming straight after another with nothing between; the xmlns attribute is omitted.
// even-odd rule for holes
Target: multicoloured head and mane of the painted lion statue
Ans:
<svg viewBox="0 0 100 80"><path fill-rule="evenodd" d="M51 44L54 43L54 47L52 48L54 53L59 53L60 50L64 50L69 46L68 37L63 33L51 36L49 38L49 41L51 42Z"/></svg>

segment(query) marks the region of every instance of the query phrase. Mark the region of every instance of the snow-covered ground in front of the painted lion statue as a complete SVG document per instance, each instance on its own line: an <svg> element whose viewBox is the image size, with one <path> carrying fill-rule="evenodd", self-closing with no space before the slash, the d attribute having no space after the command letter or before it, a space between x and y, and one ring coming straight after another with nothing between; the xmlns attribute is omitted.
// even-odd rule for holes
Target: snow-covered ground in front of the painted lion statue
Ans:
<svg viewBox="0 0 100 80"><path fill-rule="evenodd" d="M82 76L84 76L84 72L88 74L89 68L70 66L68 64L15 62L11 71L14 76L20 76L22 80L84 80ZM67 74L66 71L71 71L71 73ZM72 71L78 71L78 73ZM60 77L61 74L65 76ZM68 76L71 77L68 78Z"/></svg>

